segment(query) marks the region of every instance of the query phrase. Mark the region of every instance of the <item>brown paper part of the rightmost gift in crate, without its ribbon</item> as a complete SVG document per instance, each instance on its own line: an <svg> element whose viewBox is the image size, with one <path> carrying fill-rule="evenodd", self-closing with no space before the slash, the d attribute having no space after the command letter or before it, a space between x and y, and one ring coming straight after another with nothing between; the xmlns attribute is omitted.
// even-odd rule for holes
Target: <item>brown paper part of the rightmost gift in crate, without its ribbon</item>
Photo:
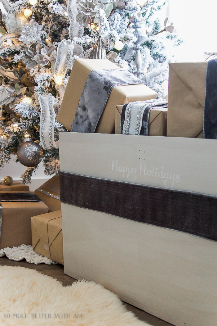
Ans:
<svg viewBox="0 0 217 326"><path fill-rule="evenodd" d="M167 136L203 138L207 62L169 64Z"/></svg>

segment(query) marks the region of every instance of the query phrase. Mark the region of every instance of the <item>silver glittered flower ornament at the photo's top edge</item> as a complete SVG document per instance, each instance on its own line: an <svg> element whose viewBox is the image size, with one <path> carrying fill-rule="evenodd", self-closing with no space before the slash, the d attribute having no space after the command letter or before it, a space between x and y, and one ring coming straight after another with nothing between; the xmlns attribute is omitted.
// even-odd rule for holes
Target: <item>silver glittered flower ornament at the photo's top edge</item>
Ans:
<svg viewBox="0 0 217 326"><path fill-rule="evenodd" d="M84 27L88 26L90 18L97 15L97 10L99 8L103 9L104 5L102 3L98 4L98 0L92 1L81 1L77 4L77 9L79 13L76 16L77 22L82 22Z"/></svg>

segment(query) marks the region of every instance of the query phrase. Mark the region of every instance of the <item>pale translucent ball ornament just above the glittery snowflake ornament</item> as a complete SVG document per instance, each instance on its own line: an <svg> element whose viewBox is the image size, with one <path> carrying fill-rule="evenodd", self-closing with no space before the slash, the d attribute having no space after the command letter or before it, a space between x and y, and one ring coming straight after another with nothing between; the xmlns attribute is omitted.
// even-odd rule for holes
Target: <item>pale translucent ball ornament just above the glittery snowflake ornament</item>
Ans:
<svg viewBox="0 0 217 326"><path fill-rule="evenodd" d="M7 15L5 26L8 32L20 35L21 28L24 27L27 22L29 22L29 19L23 14L12 13Z"/></svg>

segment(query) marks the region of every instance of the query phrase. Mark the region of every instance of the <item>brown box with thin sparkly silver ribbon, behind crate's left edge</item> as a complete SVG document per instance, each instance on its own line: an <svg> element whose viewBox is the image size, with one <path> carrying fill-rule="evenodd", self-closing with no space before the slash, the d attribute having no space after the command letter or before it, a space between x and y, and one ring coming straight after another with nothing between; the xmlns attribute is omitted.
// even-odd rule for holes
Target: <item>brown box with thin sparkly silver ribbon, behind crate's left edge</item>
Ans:
<svg viewBox="0 0 217 326"><path fill-rule="evenodd" d="M49 212L54 212L61 209L59 176L55 175L46 181L39 188L35 189L34 193L44 201L49 209Z"/></svg>

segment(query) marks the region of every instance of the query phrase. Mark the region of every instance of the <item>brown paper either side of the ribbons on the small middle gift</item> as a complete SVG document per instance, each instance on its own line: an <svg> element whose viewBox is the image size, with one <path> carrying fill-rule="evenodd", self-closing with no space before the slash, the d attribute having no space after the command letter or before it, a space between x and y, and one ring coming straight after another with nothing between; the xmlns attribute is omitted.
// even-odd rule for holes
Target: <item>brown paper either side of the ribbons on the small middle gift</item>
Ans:
<svg viewBox="0 0 217 326"><path fill-rule="evenodd" d="M121 133L121 110L123 105L117 105L115 110L115 134ZM167 136L167 108L151 109L148 120L149 136Z"/></svg>

